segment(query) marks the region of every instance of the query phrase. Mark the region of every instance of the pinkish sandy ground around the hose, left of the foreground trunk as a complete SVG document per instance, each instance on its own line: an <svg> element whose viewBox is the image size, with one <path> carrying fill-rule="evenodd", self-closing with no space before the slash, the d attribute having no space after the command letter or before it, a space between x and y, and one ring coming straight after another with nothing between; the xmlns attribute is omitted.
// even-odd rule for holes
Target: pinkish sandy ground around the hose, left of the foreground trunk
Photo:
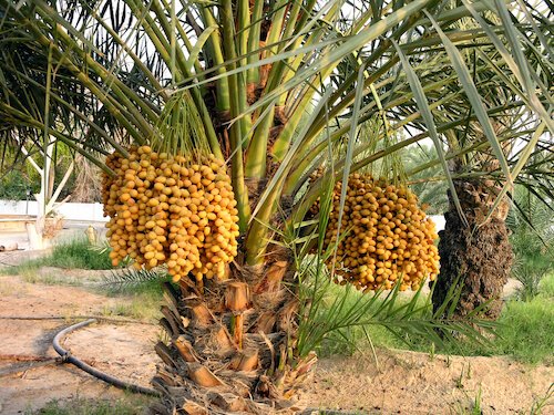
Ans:
<svg viewBox="0 0 554 415"><path fill-rule="evenodd" d="M52 400L125 398L126 393L69 364L18 362L16 357L57 357L54 335L72 317L102 315L126 299L109 298L82 287L28 283L0 276L0 414L20 414ZM66 320L12 320L12 317L62 317ZM93 367L150 386L158 357L155 324L101 322L71 333L62 345ZM33 369L34 366L34 369Z"/></svg>

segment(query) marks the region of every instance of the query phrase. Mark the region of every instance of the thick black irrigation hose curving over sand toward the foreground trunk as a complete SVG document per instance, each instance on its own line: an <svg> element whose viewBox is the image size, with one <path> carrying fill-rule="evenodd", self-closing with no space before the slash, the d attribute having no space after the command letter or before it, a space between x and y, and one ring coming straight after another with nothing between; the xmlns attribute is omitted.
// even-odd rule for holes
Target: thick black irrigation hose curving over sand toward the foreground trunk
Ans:
<svg viewBox="0 0 554 415"><path fill-rule="evenodd" d="M73 356L69 351L66 351L65 349L63 349L60 345L60 340L64 335L71 333L72 331L75 331L78 329L84 328L91 323L95 323L96 321L98 321L96 319L89 319L89 320L82 321L80 323L70 325L69 328L65 328L62 331L60 331L54 336L54 340L52 341L52 345L54 346L54 350L58 352L58 354L60 356L62 356L62 361L68 362L68 363L72 363L75 366L78 366L79 369L81 369L82 371L93 375L94 377L98 377L98 378L100 378L100 380L102 380L102 381L104 381L113 386L120 387L122 390L126 390L126 391L131 391L131 392L135 392L135 393L142 393L144 395L160 396L160 393L155 390L152 390L150 387L140 386L140 385L134 385L132 383L127 383L125 381L122 381L117 377L111 376L107 373L101 372L101 371L88 365L86 363L84 363L84 362L80 361L79 359L76 359L75 356Z"/></svg>

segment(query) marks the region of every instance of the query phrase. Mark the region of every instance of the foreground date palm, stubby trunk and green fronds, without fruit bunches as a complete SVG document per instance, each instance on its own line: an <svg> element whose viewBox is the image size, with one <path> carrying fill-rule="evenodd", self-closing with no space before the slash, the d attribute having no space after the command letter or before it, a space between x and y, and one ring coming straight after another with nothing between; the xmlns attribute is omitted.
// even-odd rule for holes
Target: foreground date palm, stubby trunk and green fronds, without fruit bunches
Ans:
<svg viewBox="0 0 554 415"><path fill-rule="evenodd" d="M281 398L316 359L299 347L306 310L298 267L309 250L298 246L315 225L305 220L307 211L335 180L431 138L463 216L442 139L473 121L485 126L479 145L492 152L507 184L514 180L523 166L509 164L488 126L516 106L552 131L550 91L536 87L538 81L548 85L552 71L547 19L524 2L510 4L521 14L510 14L501 1L0 0L2 43L42 55L48 76L37 82L9 61L0 62L1 73L17 73L43 91L47 103L70 111L86 135L75 138L47 123L48 106L28 111L3 82L0 114L10 125L51 134L113 175L103 163L111 148L126 155L124 142L164 143L162 120L172 111L194 113L204 145L229 165L240 253L230 283L211 281L202 292L166 286L162 325L171 340L156 346L164 361L158 412L270 413L286 405ZM486 13L512 19L472 29L455 24ZM531 43L517 48L533 51L523 58L509 42L511 31L522 30ZM462 50L479 51L483 62L470 70ZM491 83L513 86L519 101L500 97L486 107L475 86L484 73ZM81 89L90 112L52 86L49 80L59 76ZM472 112L441 116L460 95ZM361 134L367 123L370 136ZM522 142L523 164L543 129ZM388 145L371 151L376 143ZM463 143L456 154L475 145ZM328 168L310 180L324 164ZM341 200L343 210L345 195ZM325 222L320 217L319 235ZM427 333L437 326L448 332L450 325L441 324L425 325Z"/></svg>

